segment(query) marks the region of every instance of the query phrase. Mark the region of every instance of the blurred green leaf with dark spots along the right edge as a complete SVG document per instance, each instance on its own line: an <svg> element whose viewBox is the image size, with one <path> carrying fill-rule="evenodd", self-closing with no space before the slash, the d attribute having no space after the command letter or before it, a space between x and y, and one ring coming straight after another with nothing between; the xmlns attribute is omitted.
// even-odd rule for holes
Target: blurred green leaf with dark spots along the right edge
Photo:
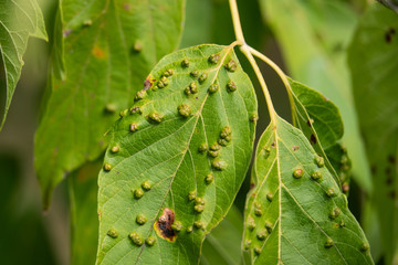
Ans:
<svg viewBox="0 0 398 265"><path fill-rule="evenodd" d="M370 6L349 49L356 107L373 169L386 264L398 237L398 17Z"/></svg>

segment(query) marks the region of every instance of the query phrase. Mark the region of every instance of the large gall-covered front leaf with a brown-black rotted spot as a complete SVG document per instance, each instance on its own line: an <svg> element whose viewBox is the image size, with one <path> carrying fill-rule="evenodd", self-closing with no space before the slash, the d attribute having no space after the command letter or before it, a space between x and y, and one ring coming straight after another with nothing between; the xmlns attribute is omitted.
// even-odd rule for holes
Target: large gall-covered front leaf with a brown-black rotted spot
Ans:
<svg viewBox="0 0 398 265"><path fill-rule="evenodd" d="M97 264L197 264L251 160L256 100L231 46L178 51L147 80L111 131Z"/></svg>

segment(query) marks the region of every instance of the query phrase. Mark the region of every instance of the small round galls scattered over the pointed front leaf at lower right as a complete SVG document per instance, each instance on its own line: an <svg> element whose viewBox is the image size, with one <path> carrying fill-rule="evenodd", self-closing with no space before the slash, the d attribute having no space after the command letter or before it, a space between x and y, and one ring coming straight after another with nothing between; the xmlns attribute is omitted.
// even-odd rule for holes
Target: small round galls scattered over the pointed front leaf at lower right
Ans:
<svg viewBox="0 0 398 265"><path fill-rule="evenodd" d="M274 147L274 146L273 146ZM295 146L293 147L293 149L296 149L298 150L298 147ZM271 153L271 148L265 146L263 147L263 152L264 152L264 158L268 159L270 157L270 153ZM320 157L320 156L315 156L314 157L314 163L317 166L317 168L324 168L325 167L325 160L323 157ZM302 179L304 177L304 169L303 168L295 168L293 169L292 171L292 177L294 179ZM320 170L315 170L311 173L311 179L313 181L322 181L323 179L323 176L322 176L322 172ZM335 191L334 188L329 188L325 191L325 194L327 198L334 198L334 197L337 197L338 191ZM273 200L273 194L271 192L269 192L266 194L266 201L269 203L271 203ZM262 209L262 205L260 202L258 201L254 201L253 202L253 215L249 215L248 220L247 220L247 229L249 231L249 233L252 233L254 232L254 230L256 229L256 221L255 219L259 219L263 215L263 209ZM337 221L337 219L342 215L342 210L338 208L338 206L335 206L332 209L332 211L329 212L328 214L328 218L331 221L334 221L336 222L336 226L337 227L345 227L345 222L343 221L343 219L339 220L339 222ZM259 220L260 221L260 220ZM260 227L256 230L256 234L255 234L255 239L259 241L259 242L263 242L265 241L265 239L272 233L273 231L273 226L274 224L272 224L272 222L270 222L269 220L265 221L265 224L263 227ZM324 247L325 248L331 248L334 246L334 241L331 239L331 237L327 237L325 243L324 243ZM244 244L244 247L245 250L249 250L249 248L253 248L253 252L255 255L260 255L261 252L262 252L262 247L261 247L261 244L260 245L255 245L255 246L252 246L252 240L247 240L245 241L245 244ZM369 250L369 246L367 243L364 243L362 244L362 246L359 247L362 252L367 252Z"/></svg>

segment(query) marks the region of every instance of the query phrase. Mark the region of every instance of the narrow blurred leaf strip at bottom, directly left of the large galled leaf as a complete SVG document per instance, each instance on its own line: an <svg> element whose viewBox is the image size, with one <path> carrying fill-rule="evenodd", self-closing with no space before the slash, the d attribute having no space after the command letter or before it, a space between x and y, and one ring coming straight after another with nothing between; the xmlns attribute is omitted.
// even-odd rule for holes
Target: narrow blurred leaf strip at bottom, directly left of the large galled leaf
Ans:
<svg viewBox="0 0 398 265"><path fill-rule="evenodd" d="M102 162L84 165L69 178L71 264L94 264L98 243L97 176Z"/></svg>

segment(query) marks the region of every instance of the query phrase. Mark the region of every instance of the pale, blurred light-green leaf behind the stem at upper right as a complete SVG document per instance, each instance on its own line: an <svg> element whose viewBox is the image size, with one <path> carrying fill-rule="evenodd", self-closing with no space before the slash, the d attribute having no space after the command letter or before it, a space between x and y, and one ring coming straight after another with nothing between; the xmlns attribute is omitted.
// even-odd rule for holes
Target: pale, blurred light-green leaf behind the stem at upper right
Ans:
<svg viewBox="0 0 398 265"><path fill-rule="evenodd" d="M342 112L342 142L353 159L353 176L371 192L371 177L362 142L346 65L346 46L356 13L345 1L261 0L266 22L281 45L292 77L316 88Z"/></svg>

